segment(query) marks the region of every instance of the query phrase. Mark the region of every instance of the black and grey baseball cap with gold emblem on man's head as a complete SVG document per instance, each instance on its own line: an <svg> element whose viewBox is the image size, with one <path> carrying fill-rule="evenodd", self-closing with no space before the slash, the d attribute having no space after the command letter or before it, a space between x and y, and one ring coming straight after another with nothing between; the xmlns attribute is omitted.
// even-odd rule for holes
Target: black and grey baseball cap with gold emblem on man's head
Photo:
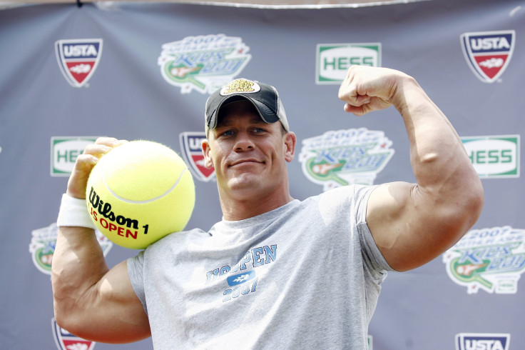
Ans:
<svg viewBox="0 0 525 350"><path fill-rule="evenodd" d="M240 100L250 101L266 123L280 121L285 130L290 131L285 108L275 87L259 81L235 79L211 94L206 101L206 134L208 129L215 129L217 126L220 108Z"/></svg>

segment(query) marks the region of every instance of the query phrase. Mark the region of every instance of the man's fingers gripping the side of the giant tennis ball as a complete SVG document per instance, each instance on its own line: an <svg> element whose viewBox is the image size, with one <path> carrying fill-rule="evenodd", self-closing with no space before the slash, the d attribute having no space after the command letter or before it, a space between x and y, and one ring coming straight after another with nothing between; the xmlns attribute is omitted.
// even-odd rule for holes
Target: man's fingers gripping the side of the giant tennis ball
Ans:
<svg viewBox="0 0 525 350"><path fill-rule="evenodd" d="M83 154L76 158L75 166L71 171L71 176L69 176L66 193L74 198L86 198L86 186L93 166L104 154L126 142L128 141L113 137L99 137L94 144L86 146Z"/></svg>

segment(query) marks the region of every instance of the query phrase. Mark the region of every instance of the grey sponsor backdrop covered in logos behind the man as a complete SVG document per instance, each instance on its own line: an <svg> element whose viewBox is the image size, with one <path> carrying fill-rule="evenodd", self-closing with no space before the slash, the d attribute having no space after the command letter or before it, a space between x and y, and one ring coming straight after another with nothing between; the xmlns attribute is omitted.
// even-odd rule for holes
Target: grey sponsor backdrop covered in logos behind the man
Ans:
<svg viewBox="0 0 525 350"><path fill-rule="evenodd" d="M279 89L298 136L289 166L295 198L344 183L414 181L397 111L356 118L337 99L334 76L349 64L375 64L414 76L449 116L479 169L486 199L458 246L419 269L389 274L369 326L370 347L524 349L524 4L444 0L294 10L84 4L0 11L0 348L82 349L53 326L49 266L68 170L89 140L151 139L195 160L197 199L188 227L209 229L220 220L213 174L199 173L198 156L180 139L203 131L209 89L231 78ZM195 45L184 44L190 41ZM164 44L170 44L165 55ZM391 151L378 158L363 133ZM335 139L341 148L330 149ZM353 166L330 168L342 162ZM101 244L110 266L136 254ZM89 346L152 348L150 339L83 349Z"/></svg>

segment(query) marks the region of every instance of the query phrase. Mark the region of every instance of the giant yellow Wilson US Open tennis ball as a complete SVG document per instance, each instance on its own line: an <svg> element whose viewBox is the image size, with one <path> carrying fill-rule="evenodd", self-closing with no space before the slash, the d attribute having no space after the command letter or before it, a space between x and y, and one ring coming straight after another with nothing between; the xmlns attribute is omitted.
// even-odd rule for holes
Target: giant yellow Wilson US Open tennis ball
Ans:
<svg viewBox="0 0 525 350"><path fill-rule="evenodd" d="M143 249L184 229L195 205L195 185L175 151L153 141L130 141L93 167L86 201L104 236Z"/></svg>

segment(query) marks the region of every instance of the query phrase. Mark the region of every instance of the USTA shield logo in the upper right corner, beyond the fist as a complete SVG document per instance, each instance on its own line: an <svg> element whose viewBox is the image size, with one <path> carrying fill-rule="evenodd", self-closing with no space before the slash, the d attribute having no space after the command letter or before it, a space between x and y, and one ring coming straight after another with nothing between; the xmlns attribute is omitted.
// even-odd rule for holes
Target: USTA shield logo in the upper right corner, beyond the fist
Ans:
<svg viewBox="0 0 525 350"><path fill-rule="evenodd" d="M461 36L465 59L479 80L494 83L511 61L515 31L477 31Z"/></svg>

